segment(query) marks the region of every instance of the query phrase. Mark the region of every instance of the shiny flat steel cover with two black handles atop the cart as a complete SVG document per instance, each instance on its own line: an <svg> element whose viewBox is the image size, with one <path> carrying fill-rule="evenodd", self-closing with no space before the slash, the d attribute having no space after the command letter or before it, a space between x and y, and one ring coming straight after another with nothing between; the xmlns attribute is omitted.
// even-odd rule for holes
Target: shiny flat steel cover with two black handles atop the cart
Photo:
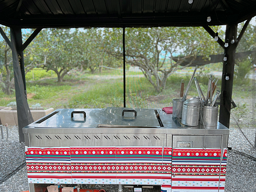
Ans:
<svg viewBox="0 0 256 192"><path fill-rule="evenodd" d="M133 112L125 112L122 116L123 110L135 110L137 116ZM74 114L71 118L71 112L84 111L83 114ZM96 127L150 127L159 128L154 109L131 109L131 108L113 108L106 109L63 109L49 119L35 126L38 128L96 128Z"/></svg>

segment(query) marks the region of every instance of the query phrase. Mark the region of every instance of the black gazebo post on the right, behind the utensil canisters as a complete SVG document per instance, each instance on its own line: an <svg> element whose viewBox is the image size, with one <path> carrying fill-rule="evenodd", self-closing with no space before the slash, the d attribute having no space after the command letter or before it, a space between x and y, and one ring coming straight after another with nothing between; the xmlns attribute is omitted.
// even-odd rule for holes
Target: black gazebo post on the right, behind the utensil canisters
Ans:
<svg viewBox="0 0 256 192"><path fill-rule="evenodd" d="M224 48L224 54L227 55L227 61L223 62L222 70L222 81L221 81L221 106L220 106L220 116L219 122L229 128L230 125L230 108L232 99L232 89L233 89L233 77L234 77L234 67L235 67L235 57L236 57L236 46L237 43L231 44L232 38L237 37L237 24L229 24L226 26L226 37L225 41L228 39L228 47ZM228 80L226 80L228 76Z"/></svg>

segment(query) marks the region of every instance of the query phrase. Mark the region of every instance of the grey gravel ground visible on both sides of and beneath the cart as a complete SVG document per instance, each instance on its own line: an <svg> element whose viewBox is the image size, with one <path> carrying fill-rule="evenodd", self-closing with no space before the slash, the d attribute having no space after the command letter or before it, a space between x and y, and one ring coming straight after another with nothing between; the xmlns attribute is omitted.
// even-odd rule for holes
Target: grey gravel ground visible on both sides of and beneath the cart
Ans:
<svg viewBox="0 0 256 192"><path fill-rule="evenodd" d="M230 137L227 157L227 177L225 192L256 192L256 160L244 157L236 151L241 151L256 158L256 150L241 134L239 128L231 122ZM245 126L244 126L245 125ZM242 131L254 143L255 125L241 123ZM17 127L9 126L10 138L8 141L0 140L0 180L15 170L25 160L24 144L19 143ZM0 192L21 192L29 189L27 183L26 167L24 166L15 175L0 182ZM107 192L117 192L117 185L83 185L84 189L105 189ZM124 189L124 192L131 192ZM146 189L143 192L160 192L160 188Z"/></svg>

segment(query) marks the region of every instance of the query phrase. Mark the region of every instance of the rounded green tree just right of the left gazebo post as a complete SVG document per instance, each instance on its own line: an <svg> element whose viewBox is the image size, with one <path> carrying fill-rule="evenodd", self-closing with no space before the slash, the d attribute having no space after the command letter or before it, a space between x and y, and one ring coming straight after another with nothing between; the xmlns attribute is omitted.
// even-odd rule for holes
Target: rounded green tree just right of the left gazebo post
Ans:
<svg viewBox="0 0 256 192"><path fill-rule="evenodd" d="M53 70L58 83L73 68L84 63L78 29L43 29L26 49L35 67Z"/></svg>

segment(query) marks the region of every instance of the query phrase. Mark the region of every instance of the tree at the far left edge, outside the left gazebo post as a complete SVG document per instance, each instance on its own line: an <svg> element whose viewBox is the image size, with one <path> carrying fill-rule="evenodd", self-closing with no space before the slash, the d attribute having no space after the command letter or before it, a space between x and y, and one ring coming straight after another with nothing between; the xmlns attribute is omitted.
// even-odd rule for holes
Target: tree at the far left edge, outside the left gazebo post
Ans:
<svg viewBox="0 0 256 192"><path fill-rule="evenodd" d="M8 28L2 26L3 31L8 34ZM0 83L4 93L10 95L14 89L12 70L12 52L6 41L0 39Z"/></svg>

